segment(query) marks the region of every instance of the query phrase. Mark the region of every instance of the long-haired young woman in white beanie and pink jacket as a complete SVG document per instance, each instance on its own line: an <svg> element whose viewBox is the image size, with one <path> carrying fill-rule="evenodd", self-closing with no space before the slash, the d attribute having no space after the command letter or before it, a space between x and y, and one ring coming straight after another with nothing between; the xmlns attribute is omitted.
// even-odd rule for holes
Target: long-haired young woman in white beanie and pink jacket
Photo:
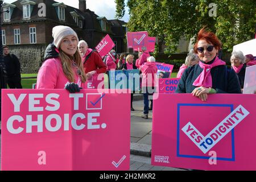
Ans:
<svg viewBox="0 0 256 182"><path fill-rule="evenodd" d="M36 89L67 89L71 93L80 92L84 87L86 75L77 44L76 32L67 26L52 28L53 45L49 49L58 52L55 56L45 56L38 72ZM48 54L47 54L48 55Z"/></svg>

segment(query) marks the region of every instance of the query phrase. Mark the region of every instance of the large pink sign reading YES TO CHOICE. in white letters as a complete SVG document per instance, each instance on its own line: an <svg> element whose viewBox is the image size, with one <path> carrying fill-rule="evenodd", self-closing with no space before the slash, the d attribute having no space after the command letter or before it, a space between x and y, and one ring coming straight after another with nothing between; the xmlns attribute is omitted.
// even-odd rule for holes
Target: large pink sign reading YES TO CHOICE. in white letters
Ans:
<svg viewBox="0 0 256 182"><path fill-rule="evenodd" d="M3 89L1 139L2 170L129 170L130 94Z"/></svg>

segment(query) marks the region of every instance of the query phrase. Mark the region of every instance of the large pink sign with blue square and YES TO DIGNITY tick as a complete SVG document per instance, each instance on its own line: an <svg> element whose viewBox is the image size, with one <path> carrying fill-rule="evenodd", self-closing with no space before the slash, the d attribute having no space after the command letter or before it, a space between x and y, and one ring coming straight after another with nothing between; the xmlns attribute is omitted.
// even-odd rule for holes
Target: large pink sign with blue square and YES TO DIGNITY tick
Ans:
<svg viewBox="0 0 256 182"><path fill-rule="evenodd" d="M154 101L152 165L256 170L255 102L256 94L212 94L207 102L191 94L159 94Z"/></svg>

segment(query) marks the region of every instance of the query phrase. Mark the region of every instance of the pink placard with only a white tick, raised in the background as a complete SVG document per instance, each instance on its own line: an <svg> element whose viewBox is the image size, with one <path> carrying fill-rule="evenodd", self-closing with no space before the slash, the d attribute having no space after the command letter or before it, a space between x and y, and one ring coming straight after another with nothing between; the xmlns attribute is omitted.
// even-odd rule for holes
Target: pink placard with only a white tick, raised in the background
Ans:
<svg viewBox="0 0 256 182"><path fill-rule="evenodd" d="M147 31L142 32L127 32L127 46L128 48L133 48L134 50L138 48L141 49L143 46L148 45L148 33Z"/></svg>

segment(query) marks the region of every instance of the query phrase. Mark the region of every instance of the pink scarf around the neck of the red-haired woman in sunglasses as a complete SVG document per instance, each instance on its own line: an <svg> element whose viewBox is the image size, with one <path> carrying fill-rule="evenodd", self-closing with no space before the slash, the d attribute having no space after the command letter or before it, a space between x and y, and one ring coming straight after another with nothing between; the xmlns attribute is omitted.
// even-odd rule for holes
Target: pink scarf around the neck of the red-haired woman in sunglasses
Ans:
<svg viewBox="0 0 256 182"><path fill-rule="evenodd" d="M204 86L204 87L212 87L212 75L210 75L210 69L213 67L217 67L219 65L225 65L226 63L216 56L216 59L213 61L212 64L205 64L199 61L199 66L204 70L201 74L196 78L193 82L194 86Z"/></svg>

